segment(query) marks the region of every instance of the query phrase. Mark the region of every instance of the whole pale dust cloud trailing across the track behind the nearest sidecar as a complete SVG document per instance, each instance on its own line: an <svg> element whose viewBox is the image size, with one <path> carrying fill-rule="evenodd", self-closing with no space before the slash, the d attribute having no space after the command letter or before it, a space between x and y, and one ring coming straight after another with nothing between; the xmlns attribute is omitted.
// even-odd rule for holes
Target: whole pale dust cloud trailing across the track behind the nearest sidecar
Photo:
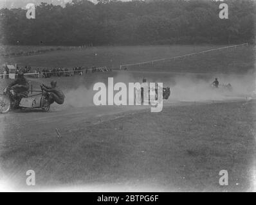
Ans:
<svg viewBox="0 0 256 205"><path fill-rule="evenodd" d="M119 72L113 76L114 83L142 83L142 78L147 78L147 82L163 83L164 87L170 87L170 97L164 102L178 101L225 101L230 99L245 99L251 97L255 92L255 74L253 72L238 74L161 74L156 72L132 74L129 72ZM215 78L219 80L219 88L215 89L211 86ZM105 83L107 87L107 78L94 81L91 85L80 85L77 88L68 88L64 90L66 95L65 102L59 108L82 108L87 106L95 106L93 96L96 91L93 90L95 83ZM232 85L232 90L223 88L222 85ZM114 94L117 91L114 92ZM128 94L128 90L127 90ZM127 100L129 97L127 96ZM57 106L55 106L57 108ZM59 110L59 109L58 109Z"/></svg>

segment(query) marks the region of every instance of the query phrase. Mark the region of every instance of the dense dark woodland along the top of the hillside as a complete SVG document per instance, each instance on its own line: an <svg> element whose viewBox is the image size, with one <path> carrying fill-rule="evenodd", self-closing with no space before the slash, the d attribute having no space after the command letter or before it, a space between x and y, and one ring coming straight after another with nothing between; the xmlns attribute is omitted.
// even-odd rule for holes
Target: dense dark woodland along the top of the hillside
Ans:
<svg viewBox="0 0 256 205"><path fill-rule="evenodd" d="M223 2L221 2L223 3ZM229 19L219 19L210 0L73 0L65 7L41 3L35 19L21 8L0 10L4 44L128 45L253 42L255 1L226 0Z"/></svg>

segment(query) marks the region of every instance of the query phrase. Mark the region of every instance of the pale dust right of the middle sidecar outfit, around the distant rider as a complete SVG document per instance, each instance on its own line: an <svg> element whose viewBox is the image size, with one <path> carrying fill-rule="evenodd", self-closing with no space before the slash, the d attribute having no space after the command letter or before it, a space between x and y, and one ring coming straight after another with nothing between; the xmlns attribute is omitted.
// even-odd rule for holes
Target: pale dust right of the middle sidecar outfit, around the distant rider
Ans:
<svg viewBox="0 0 256 205"><path fill-rule="evenodd" d="M218 78L219 88L211 86L215 78ZM253 74L246 75L224 75L214 74L212 78L198 78L192 74L184 76L176 76L174 86L171 86L171 96L169 101L224 101L228 99L244 99L251 97L255 90L255 76ZM228 90L223 85L232 86Z"/></svg>

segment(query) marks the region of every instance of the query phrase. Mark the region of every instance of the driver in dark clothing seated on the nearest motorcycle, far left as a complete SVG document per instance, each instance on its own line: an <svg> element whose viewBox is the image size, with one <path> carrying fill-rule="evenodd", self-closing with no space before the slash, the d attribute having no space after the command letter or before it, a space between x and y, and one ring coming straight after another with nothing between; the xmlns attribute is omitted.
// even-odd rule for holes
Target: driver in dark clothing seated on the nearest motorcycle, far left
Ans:
<svg viewBox="0 0 256 205"><path fill-rule="evenodd" d="M28 90L30 85L26 78L24 78L23 71L19 71L17 79L8 85L8 88L12 88L15 91L15 99L19 100L22 97L28 97Z"/></svg>

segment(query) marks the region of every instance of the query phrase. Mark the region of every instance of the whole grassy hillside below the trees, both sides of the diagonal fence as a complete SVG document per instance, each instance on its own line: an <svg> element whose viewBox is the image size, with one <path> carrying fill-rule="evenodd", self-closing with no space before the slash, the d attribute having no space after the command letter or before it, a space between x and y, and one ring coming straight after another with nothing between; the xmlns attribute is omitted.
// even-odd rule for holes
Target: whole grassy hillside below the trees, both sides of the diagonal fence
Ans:
<svg viewBox="0 0 256 205"><path fill-rule="evenodd" d="M123 46L123 47L87 47L68 51L52 51L32 56L1 58L3 63L30 65L33 68L52 68L77 66L107 66L119 69L125 63L171 58L188 53L205 51L224 45L161 45L161 46ZM39 49L39 48L38 48ZM218 72L245 73L253 67L255 49L253 45L222 51L212 51L179 60L160 61L142 66L127 67L128 70L147 70L161 72Z"/></svg>

